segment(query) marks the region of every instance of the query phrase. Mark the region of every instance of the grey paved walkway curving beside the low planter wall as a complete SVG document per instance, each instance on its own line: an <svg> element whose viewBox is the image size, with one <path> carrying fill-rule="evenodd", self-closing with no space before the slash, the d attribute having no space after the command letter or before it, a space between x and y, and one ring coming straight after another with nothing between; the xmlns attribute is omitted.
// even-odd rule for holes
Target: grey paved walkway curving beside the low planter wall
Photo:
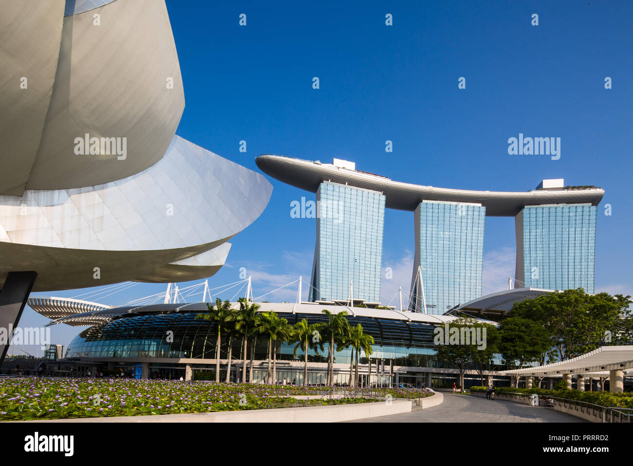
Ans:
<svg viewBox="0 0 633 466"><path fill-rule="evenodd" d="M425 410L350 422L587 422L552 408L444 392L444 403Z"/></svg>

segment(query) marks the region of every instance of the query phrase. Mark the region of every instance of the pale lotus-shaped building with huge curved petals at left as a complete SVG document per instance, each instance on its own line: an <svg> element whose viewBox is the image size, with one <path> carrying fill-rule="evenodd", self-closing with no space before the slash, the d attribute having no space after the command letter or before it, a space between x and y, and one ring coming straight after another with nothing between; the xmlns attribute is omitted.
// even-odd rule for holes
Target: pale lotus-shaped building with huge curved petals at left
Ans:
<svg viewBox="0 0 633 466"><path fill-rule="evenodd" d="M0 325L30 290L213 275L272 186L175 135L185 101L165 2L0 11Z"/></svg>

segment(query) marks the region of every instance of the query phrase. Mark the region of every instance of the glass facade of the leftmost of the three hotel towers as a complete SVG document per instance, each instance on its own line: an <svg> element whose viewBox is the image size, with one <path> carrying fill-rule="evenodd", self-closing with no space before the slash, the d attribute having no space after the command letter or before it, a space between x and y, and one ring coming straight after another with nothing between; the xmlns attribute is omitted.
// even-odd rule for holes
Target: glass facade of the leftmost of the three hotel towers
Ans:
<svg viewBox="0 0 633 466"><path fill-rule="evenodd" d="M323 182L316 191L316 248L310 301L380 302L385 197L377 191Z"/></svg>

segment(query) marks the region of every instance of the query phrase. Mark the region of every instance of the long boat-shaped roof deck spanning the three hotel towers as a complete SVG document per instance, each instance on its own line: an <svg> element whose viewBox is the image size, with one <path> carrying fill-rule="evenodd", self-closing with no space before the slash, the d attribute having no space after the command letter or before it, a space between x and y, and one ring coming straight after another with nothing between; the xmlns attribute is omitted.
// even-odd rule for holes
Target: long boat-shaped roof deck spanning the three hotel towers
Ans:
<svg viewBox="0 0 633 466"><path fill-rule="evenodd" d="M605 195L605 191L601 188L518 192L435 188L392 181L384 176L336 167L333 164L292 159L280 155L260 155L255 162L261 171L273 178L313 193L323 181L381 191L386 197L385 207L399 210L415 210L422 200L472 202L486 207L487 216L510 217L517 215L526 205L598 205Z"/></svg>

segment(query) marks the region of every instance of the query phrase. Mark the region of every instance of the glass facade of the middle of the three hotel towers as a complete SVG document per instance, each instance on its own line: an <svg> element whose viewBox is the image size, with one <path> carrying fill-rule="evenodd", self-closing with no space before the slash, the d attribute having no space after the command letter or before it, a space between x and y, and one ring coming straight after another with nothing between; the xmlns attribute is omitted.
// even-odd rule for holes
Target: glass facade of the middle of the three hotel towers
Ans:
<svg viewBox="0 0 633 466"><path fill-rule="evenodd" d="M423 201L415 209L415 261L410 309L443 314L481 295L486 207Z"/></svg>

